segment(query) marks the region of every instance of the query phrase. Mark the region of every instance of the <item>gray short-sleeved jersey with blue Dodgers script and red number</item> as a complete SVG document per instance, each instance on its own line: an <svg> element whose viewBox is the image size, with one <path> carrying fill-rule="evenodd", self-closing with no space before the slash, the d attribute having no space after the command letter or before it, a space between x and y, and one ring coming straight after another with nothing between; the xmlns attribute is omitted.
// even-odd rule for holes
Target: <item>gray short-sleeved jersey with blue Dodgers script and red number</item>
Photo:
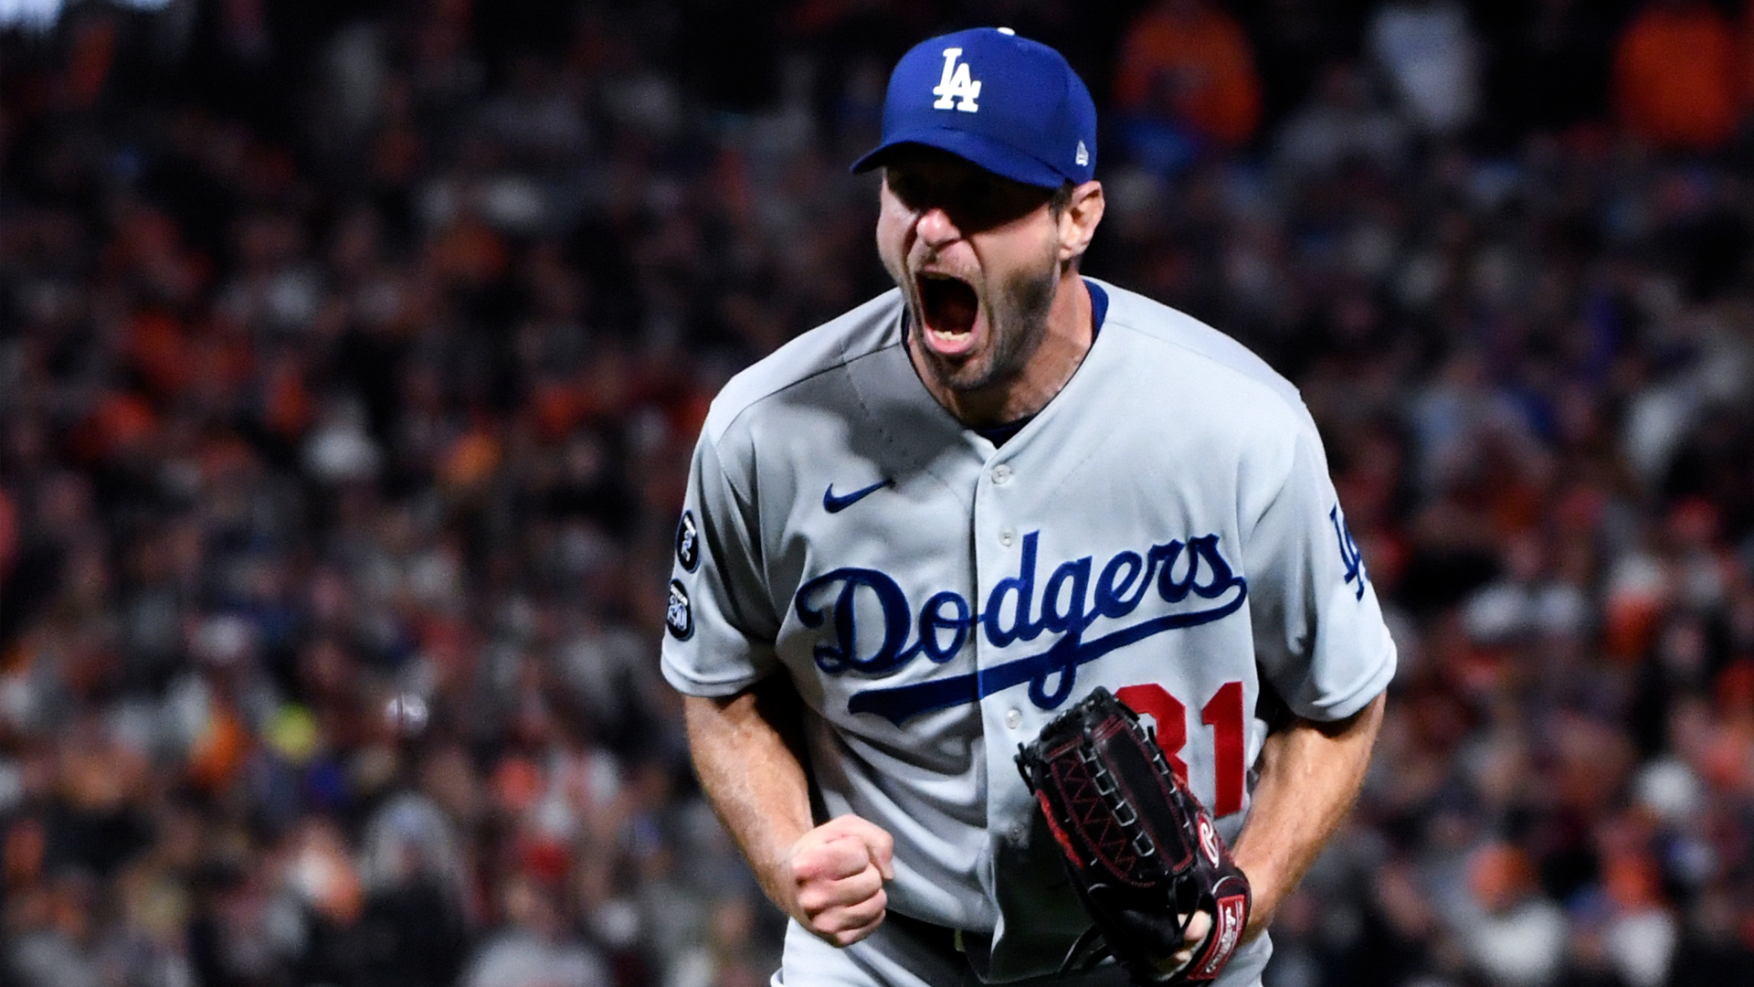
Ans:
<svg viewBox="0 0 1754 987"><path fill-rule="evenodd" d="M1000 446L919 381L898 292L738 374L695 451L670 583L670 683L730 695L786 673L823 808L895 834L891 913L966 931L998 982L1052 973L1089 926L1012 760L1058 710L1105 685L1156 720L1235 839L1263 688L1338 720L1394 674L1296 390L1087 283L1094 344ZM1268 950L1221 983L1254 983Z"/></svg>

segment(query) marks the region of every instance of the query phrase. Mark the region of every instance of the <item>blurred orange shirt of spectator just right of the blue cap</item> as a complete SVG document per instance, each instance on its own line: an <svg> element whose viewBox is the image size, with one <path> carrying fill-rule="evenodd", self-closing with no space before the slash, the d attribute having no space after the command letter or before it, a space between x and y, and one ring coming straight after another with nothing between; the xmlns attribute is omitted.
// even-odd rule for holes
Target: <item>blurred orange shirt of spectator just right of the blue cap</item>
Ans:
<svg viewBox="0 0 1754 987"><path fill-rule="evenodd" d="M1261 119L1261 79L1242 25L1203 0L1152 5L1123 40L1116 102L1224 148L1245 142Z"/></svg>

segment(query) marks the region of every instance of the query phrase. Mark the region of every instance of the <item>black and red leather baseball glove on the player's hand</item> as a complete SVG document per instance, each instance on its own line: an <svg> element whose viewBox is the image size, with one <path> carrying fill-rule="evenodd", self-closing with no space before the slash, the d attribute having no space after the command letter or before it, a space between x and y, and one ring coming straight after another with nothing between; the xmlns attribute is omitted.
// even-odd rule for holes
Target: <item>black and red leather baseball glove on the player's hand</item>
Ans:
<svg viewBox="0 0 1754 987"><path fill-rule="evenodd" d="M1100 961L1100 947L1087 950L1100 934L1133 983L1217 978L1249 920L1249 880L1138 717L1096 688L1035 741L1017 745L1017 769L1094 920L1066 966ZM1212 917L1212 931L1191 961L1177 964L1196 911Z"/></svg>

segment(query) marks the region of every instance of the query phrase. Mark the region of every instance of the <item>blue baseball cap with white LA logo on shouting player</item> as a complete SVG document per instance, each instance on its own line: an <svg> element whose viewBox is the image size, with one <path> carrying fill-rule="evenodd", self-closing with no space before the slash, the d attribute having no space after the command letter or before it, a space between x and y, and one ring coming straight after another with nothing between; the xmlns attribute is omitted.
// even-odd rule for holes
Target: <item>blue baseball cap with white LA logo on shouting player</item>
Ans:
<svg viewBox="0 0 1754 987"><path fill-rule="evenodd" d="M882 165L900 144L926 144L1024 184L1082 184L1096 174L1096 104L1052 47L1010 28L923 40L889 74L882 142L852 163Z"/></svg>

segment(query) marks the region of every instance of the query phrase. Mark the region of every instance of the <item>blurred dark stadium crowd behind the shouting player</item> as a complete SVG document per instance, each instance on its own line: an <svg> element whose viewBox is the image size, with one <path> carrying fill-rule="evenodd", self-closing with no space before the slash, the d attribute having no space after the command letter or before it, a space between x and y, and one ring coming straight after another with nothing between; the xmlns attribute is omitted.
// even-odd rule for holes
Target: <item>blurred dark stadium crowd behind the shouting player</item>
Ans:
<svg viewBox="0 0 1754 987"><path fill-rule="evenodd" d="M1754 5L1750 5L1754 7ZM1754 983L1754 12L0 0L0 982L759 987L656 667L912 42L1321 423L1401 648L1272 987Z"/></svg>

